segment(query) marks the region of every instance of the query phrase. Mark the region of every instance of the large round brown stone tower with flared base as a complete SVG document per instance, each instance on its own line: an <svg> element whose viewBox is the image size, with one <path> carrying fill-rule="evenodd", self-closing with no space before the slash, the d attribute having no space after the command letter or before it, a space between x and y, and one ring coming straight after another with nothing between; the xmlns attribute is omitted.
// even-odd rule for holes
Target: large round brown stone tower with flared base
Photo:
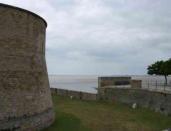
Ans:
<svg viewBox="0 0 171 131"><path fill-rule="evenodd" d="M46 26L32 12L0 4L0 130L37 131L54 120Z"/></svg>

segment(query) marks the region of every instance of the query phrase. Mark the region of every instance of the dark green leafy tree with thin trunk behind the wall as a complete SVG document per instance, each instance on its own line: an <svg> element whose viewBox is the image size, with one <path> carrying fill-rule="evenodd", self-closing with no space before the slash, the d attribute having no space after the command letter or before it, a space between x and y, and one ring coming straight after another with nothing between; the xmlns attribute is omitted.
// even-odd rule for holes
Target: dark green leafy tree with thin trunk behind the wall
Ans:
<svg viewBox="0 0 171 131"><path fill-rule="evenodd" d="M171 58L167 61L157 61L147 68L149 75L163 75L167 85L167 76L171 75Z"/></svg>

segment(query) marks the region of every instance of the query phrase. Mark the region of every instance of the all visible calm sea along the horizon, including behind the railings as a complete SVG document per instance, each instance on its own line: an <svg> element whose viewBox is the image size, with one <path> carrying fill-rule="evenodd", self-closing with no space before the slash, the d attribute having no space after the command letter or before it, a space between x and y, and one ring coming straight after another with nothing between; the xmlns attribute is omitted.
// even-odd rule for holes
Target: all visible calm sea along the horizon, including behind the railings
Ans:
<svg viewBox="0 0 171 131"><path fill-rule="evenodd" d="M135 80L142 80L142 83L144 85L147 82L164 83L165 81L163 76L131 75L130 77ZM49 82L51 88L67 89L96 94L98 87L98 76L49 75ZM171 83L171 76L168 77L168 83Z"/></svg>

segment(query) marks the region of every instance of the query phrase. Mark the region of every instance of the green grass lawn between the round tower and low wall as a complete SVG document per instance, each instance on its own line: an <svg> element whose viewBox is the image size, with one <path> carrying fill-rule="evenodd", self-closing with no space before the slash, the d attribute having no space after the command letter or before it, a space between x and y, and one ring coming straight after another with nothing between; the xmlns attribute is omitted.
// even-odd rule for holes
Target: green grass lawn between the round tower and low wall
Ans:
<svg viewBox="0 0 171 131"><path fill-rule="evenodd" d="M171 117L148 109L53 96L56 119L43 131L161 131Z"/></svg>

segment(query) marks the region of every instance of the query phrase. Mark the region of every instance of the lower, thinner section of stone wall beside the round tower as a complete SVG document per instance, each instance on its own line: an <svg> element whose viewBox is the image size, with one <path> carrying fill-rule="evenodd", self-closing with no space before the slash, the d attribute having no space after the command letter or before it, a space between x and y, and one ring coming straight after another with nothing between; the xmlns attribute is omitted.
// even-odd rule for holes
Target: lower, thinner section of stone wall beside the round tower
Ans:
<svg viewBox="0 0 171 131"><path fill-rule="evenodd" d="M91 93L86 93L86 92L51 88L51 93L60 95L60 96L72 97L72 98L79 99L79 100L87 100L87 101L97 100L97 94L91 94Z"/></svg>

